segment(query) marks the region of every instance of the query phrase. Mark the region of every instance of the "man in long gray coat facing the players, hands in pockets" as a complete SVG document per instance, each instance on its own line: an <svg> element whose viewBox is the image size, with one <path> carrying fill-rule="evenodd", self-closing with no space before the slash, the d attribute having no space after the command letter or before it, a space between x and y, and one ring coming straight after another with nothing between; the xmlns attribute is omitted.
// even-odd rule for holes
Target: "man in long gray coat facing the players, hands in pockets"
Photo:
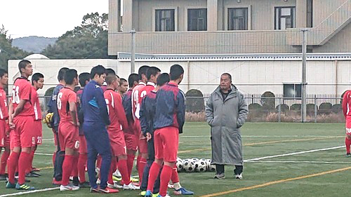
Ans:
<svg viewBox="0 0 351 197"><path fill-rule="evenodd" d="M235 165L234 176L242 179L243 156L240 128L249 113L244 96L232 85L232 76L222 74L220 86L206 103L206 121L211 126L212 164L215 179L223 179L224 166Z"/></svg>

